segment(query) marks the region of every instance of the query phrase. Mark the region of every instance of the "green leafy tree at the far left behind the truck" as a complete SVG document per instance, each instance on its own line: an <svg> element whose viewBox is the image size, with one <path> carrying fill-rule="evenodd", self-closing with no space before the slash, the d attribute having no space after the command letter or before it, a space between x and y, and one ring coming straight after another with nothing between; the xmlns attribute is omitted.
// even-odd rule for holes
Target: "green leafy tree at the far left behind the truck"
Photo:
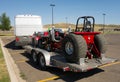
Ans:
<svg viewBox="0 0 120 82"><path fill-rule="evenodd" d="M10 30L10 19L8 16L6 16L6 13L3 13L0 16L0 29L4 30Z"/></svg>

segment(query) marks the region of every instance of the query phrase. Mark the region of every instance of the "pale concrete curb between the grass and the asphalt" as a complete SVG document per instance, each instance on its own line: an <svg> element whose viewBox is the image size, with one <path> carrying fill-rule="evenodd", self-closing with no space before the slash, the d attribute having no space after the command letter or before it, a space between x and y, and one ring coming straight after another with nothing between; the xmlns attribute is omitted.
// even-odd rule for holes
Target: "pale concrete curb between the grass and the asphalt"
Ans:
<svg viewBox="0 0 120 82"><path fill-rule="evenodd" d="M15 64L13 58L11 57L10 53L8 52L7 48L5 48L3 41L0 38L1 48L3 52L3 56L5 59L5 63L7 65L8 73L10 76L11 82L26 82L20 77L20 70Z"/></svg>

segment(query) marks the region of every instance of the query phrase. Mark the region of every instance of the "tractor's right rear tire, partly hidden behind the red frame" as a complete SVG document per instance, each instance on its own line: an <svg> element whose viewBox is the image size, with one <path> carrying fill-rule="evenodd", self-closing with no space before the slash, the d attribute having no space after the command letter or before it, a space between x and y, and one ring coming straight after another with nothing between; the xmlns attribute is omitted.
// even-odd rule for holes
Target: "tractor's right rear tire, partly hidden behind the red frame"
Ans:
<svg viewBox="0 0 120 82"><path fill-rule="evenodd" d="M100 53L104 54L107 51L107 41L102 34L95 35L94 42Z"/></svg>

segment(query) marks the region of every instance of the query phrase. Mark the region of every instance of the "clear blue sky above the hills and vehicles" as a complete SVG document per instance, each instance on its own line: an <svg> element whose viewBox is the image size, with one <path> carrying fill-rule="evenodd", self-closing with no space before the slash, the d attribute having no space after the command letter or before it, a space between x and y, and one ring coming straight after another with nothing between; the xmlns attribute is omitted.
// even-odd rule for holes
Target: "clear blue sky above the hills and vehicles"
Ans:
<svg viewBox="0 0 120 82"><path fill-rule="evenodd" d="M120 25L120 0L0 0L0 15L6 13L14 25L16 15L39 15L42 23L52 23L52 7L54 23L76 24L80 16L93 16L96 24ZM67 19L66 19L67 18Z"/></svg>

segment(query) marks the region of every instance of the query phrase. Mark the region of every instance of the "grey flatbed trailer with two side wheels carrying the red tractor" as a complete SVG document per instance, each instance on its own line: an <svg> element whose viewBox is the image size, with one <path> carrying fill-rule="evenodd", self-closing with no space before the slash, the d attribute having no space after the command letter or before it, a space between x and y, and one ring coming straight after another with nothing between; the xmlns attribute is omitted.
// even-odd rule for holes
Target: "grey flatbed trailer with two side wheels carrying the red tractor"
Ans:
<svg viewBox="0 0 120 82"><path fill-rule="evenodd" d="M34 62L40 63L40 68L44 70L46 66L57 67L63 69L63 71L73 72L86 72L88 70L97 68L99 66L117 61L113 58L102 57L100 58L80 58L79 63L70 63L63 56L61 52L48 52L47 50L34 48L30 45L24 46L27 53L32 55ZM42 58L41 58L42 56ZM37 59L34 59L37 57Z"/></svg>

